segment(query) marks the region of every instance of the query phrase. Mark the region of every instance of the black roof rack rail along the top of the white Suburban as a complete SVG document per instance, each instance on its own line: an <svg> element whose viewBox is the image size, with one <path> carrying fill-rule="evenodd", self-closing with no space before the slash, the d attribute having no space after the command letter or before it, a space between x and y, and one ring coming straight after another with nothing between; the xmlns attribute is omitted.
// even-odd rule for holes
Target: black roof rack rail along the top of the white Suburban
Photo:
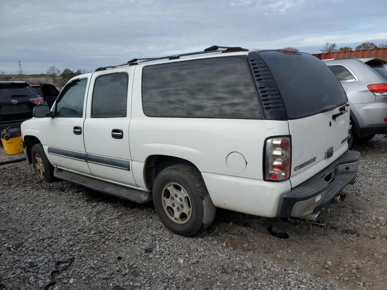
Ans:
<svg viewBox="0 0 387 290"><path fill-rule="evenodd" d="M99 67L95 71L98 72L100 70L106 70L107 68L115 68L115 67L121 67L123 65L137 65L142 62L146 61L155 61L155 60L177 60L181 56L190 56L190 55L202 55L205 53L214 53L214 52L236 52L236 51L248 51L248 49L241 48L238 46L211 46L209 48L204 49L204 51L197 51L197 52L190 52L190 53L182 53L180 55L169 55L169 56L161 56L161 57L155 57L155 58L134 58L132 60L127 61L126 63L121 63L119 65L109 65L107 67Z"/></svg>

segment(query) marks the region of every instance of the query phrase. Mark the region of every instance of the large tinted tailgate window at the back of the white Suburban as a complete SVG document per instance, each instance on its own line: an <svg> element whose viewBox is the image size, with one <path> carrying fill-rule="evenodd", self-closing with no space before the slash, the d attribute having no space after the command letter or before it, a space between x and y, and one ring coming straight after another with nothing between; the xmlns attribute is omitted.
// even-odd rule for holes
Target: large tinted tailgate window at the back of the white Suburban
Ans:
<svg viewBox="0 0 387 290"><path fill-rule="evenodd" d="M319 114L348 101L336 76L317 57L280 51L263 51L259 56L277 83L288 119Z"/></svg>

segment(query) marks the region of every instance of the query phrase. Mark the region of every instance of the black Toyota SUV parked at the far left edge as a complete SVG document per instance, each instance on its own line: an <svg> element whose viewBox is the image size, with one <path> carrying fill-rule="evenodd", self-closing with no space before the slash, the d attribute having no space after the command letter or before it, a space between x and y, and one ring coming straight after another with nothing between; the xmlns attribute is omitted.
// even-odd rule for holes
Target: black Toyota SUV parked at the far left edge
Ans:
<svg viewBox="0 0 387 290"><path fill-rule="evenodd" d="M32 118L33 108L43 103L26 82L0 82L0 131L10 126L20 128L23 121Z"/></svg>

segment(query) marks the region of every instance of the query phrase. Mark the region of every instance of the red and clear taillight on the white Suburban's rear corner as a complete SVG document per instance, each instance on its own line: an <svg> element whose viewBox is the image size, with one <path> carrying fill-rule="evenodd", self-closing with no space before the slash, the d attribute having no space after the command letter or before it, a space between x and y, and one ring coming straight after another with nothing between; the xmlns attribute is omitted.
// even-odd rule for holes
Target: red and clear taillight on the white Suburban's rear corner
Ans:
<svg viewBox="0 0 387 290"><path fill-rule="evenodd" d="M291 143L289 137L275 137L265 144L265 180L281 181L290 176Z"/></svg>

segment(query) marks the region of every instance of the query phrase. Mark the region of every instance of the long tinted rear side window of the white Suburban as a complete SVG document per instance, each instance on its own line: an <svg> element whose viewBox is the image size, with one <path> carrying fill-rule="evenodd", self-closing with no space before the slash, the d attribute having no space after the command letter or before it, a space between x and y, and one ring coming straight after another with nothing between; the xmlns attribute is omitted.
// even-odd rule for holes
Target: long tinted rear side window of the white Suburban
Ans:
<svg viewBox="0 0 387 290"><path fill-rule="evenodd" d="M142 106L151 117L264 118L247 62L240 57L144 67Z"/></svg>

